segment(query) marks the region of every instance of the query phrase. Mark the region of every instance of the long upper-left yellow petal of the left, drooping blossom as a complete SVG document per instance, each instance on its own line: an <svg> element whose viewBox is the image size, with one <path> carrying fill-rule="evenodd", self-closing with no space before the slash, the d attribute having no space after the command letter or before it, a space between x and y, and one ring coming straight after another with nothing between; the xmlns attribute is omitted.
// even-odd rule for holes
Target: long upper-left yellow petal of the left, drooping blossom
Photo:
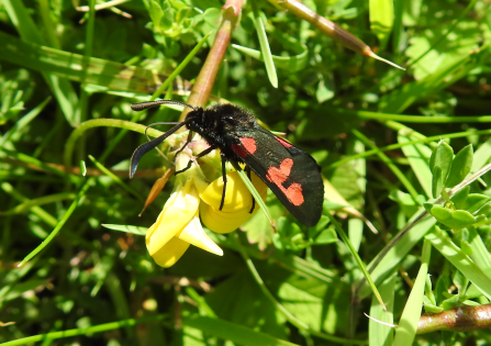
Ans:
<svg viewBox="0 0 491 346"><path fill-rule="evenodd" d="M198 190L193 180L189 179L183 187L179 187L167 200L157 221L148 228L146 246L150 256L154 256L167 242L169 242L198 212Z"/></svg>

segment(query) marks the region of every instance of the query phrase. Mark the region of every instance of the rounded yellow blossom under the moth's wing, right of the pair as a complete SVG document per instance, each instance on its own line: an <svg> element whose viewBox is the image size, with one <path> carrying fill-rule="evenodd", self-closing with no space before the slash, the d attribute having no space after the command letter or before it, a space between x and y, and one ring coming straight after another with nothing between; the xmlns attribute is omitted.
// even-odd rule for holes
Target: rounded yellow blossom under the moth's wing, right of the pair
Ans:
<svg viewBox="0 0 491 346"><path fill-rule="evenodd" d="M225 201L222 210L220 203L223 193L223 178L214 180L201 193L204 203L200 204L200 215L203 224L216 233L228 233L236 230L246 222L258 209L256 202L253 213L253 197L244 181L236 171L226 175ZM263 200L266 199L267 187L254 172L253 185Z"/></svg>

